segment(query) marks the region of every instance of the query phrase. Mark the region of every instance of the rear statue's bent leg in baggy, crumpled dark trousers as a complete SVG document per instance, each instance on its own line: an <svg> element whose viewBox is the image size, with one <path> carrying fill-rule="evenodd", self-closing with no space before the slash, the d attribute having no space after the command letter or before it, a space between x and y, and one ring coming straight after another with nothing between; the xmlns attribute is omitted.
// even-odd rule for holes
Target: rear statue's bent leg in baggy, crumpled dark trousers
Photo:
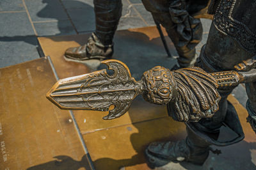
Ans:
<svg viewBox="0 0 256 170"><path fill-rule="evenodd" d="M179 54L181 67L188 67L195 61L195 47L202 39L200 19L194 19L186 11L184 1L142 1L154 20L159 22L168 33Z"/></svg>

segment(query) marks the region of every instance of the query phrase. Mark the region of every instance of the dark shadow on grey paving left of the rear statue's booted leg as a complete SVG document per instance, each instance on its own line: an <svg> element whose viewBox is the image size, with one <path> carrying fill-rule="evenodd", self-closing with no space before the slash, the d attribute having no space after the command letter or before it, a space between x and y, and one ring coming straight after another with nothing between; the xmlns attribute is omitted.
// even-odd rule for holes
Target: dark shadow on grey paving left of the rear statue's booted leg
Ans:
<svg viewBox="0 0 256 170"><path fill-rule="evenodd" d="M86 28L86 31L93 31L95 29L94 10L93 6L90 4L81 1L64 1L63 3L65 3L65 5L61 5L52 0L42 0L42 3L46 5L40 12L36 13L36 15L43 19L53 19L57 21L59 33L55 35L51 34L51 36L74 35L76 34L75 30L81 27L83 27L82 30ZM83 12L81 12L80 9L82 9ZM72 16L72 19L70 16ZM76 26L74 26L74 24L76 24ZM45 29L47 29L47 27L45 27ZM51 29L51 27L49 27L49 29Z"/></svg>

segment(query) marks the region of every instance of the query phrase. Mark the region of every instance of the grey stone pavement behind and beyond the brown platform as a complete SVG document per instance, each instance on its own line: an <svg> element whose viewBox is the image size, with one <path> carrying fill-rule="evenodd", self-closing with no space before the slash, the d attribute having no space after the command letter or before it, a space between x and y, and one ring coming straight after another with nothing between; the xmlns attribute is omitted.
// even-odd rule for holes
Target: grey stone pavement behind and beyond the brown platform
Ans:
<svg viewBox="0 0 256 170"><path fill-rule="evenodd" d="M119 30L155 25L140 0L122 3ZM93 0L1 0L0 68L40 58L38 36L90 33L95 29L94 20ZM204 36L197 52L207 40L211 20L202 19L202 23ZM232 95L245 107L244 86L239 85Z"/></svg>

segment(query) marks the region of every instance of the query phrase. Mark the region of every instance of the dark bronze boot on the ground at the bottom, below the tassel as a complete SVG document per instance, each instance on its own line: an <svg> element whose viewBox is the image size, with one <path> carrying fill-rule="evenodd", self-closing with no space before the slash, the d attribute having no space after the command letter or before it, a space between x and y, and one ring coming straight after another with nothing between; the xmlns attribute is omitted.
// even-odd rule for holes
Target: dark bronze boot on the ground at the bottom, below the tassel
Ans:
<svg viewBox="0 0 256 170"><path fill-rule="evenodd" d="M154 142L145 150L148 166L160 167L169 162L191 162L202 165L209 155L209 146L204 139L198 137L187 128L188 137L177 142Z"/></svg>

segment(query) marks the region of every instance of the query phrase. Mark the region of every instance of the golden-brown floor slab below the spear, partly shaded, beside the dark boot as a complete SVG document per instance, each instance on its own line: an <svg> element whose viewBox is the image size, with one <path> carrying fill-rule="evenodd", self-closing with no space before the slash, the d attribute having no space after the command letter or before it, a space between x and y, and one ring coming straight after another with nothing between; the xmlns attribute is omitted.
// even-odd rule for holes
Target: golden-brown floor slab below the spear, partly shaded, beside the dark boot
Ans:
<svg viewBox="0 0 256 170"><path fill-rule="evenodd" d="M99 130L83 138L96 169L148 169L144 158L147 144L164 139L177 141L185 134L184 123L166 117Z"/></svg>

